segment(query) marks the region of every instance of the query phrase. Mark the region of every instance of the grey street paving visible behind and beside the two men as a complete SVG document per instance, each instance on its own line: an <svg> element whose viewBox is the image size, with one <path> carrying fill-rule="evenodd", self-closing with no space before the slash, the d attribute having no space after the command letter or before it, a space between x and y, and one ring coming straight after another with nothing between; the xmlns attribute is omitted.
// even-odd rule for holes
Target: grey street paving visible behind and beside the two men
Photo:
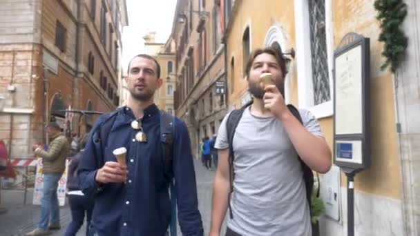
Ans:
<svg viewBox="0 0 420 236"><path fill-rule="evenodd" d="M197 176L198 200L204 232L209 232L211 216L211 188L215 171L207 170L200 161L195 160L195 175ZM1 190L2 205L8 212L0 215L0 235L20 236L37 226L39 220L39 206L32 205L33 189L29 190L27 204L23 205L23 190ZM70 223L71 214L68 203L60 209L61 230L52 231L50 235L64 235L66 226ZM77 235L84 235L86 224ZM181 235L178 229L178 235Z"/></svg>

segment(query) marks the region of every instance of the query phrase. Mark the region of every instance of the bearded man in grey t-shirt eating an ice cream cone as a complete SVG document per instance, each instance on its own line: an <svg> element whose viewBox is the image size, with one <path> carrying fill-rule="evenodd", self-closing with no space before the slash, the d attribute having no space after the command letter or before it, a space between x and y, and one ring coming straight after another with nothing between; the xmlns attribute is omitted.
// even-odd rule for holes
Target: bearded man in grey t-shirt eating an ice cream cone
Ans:
<svg viewBox="0 0 420 236"><path fill-rule="evenodd" d="M331 166L330 148L314 115L299 110L301 124L285 104L287 71L279 50L255 50L246 72L254 102L243 110L233 140L228 139L229 115L220 124L216 140L219 166L213 184L210 235L220 235L229 206L226 235L311 236L298 155L312 170L326 173ZM262 73L271 73L271 85L262 86Z"/></svg>

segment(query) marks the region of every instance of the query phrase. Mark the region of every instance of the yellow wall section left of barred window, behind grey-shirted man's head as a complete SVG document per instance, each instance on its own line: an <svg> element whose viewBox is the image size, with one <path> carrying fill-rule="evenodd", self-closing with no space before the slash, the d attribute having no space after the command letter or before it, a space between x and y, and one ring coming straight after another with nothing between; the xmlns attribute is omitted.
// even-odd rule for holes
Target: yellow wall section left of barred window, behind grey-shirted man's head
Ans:
<svg viewBox="0 0 420 236"><path fill-rule="evenodd" d="M248 89L248 82L242 73L245 65L242 63L242 35L247 26L249 26L249 38L251 50L264 46L267 30L273 24L277 24L287 32L287 41L289 47L294 47L294 5L289 0L265 0L265 1L244 1L237 0L238 12L233 17L233 22L227 38L227 71L229 85L229 105L240 107L242 95ZM285 50L283 48L283 50ZM231 87L231 59L235 60L235 81ZM294 72L296 75L296 72ZM296 78L292 77L292 87L297 88ZM296 100L297 101L297 100Z"/></svg>

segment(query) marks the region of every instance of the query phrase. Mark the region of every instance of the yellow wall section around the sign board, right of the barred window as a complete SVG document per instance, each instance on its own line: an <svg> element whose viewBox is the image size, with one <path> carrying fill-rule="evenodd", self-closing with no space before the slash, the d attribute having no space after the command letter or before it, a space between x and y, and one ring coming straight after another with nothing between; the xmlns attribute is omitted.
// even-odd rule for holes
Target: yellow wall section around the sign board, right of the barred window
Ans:
<svg viewBox="0 0 420 236"><path fill-rule="evenodd" d="M370 38L370 132L372 167L356 175L356 190L401 199L401 175L397 149L394 112L393 75L381 71L384 61L379 43L379 22L373 1L334 0L334 48L347 32L356 32ZM345 186L345 178L342 185Z"/></svg>

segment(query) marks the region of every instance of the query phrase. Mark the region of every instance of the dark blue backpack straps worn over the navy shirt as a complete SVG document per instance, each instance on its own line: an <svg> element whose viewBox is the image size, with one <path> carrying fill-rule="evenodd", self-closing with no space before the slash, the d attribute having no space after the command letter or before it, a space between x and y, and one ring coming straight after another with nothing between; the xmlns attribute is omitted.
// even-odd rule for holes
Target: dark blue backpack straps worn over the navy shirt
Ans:
<svg viewBox="0 0 420 236"><path fill-rule="evenodd" d="M123 108L118 108L111 113L108 113L104 123L99 126L97 132L93 133L93 141L96 143L95 147L100 147L101 150L95 150L97 154L102 153L102 150L105 150L106 141L108 140L108 135L111 132L111 128L117 119L118 112ZM176 219L176 189L175 189L175 180L173 179L173 170L172 170L172 160L173 160L173 132L174 132L174 122L175 117L160 110L160 141L162 144L162 158L164 161L164 175L166 180L169 182L169 190L171 195L171 222L169 228L171 231L171 236L176 236L177 229L177 219ZM98 155L97 155L98 157ZM101 168L104 166L103 155L99 155L97 158L97 166Z"/></svg>

